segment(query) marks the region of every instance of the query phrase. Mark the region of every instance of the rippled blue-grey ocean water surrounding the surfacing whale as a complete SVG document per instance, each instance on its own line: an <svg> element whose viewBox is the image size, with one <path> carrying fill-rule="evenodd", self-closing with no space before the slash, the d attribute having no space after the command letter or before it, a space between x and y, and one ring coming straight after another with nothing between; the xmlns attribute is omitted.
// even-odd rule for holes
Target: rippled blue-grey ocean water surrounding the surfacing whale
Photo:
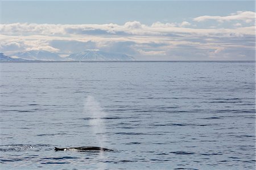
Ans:
<svg viewBox="0 0 256 170"><path fill-rule="evenodd" d="M254 62L0 67L0 169L255 169Z"/></svg>

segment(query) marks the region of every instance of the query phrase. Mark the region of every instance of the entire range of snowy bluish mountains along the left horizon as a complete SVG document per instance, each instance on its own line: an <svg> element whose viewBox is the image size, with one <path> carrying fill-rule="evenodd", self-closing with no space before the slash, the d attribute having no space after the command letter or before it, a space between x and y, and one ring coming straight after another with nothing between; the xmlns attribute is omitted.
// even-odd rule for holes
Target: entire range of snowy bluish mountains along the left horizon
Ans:
<svg viewBox="0 0 256 170"><path fill-rule="evenodd" d="M110 53L98 50L86 50L60 57L58 53L49 51L25 51L6 56L0 55L0 61L133 61L134 58L122 53Z"/></svg>

